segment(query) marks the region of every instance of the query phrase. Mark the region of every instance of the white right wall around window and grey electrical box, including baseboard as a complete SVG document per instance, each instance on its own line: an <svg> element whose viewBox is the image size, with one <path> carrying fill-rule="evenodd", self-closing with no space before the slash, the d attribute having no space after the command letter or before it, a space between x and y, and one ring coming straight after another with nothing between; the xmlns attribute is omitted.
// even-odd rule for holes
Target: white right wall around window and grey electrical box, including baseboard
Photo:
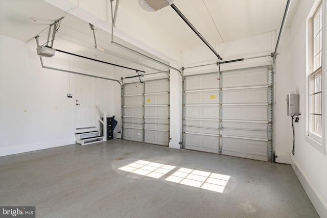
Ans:
<svg viewBox="0 0 327 218"><path fill-rule="evenodd" d="M327 29L327 16L326 16L326 4L327 2L323 0L323 10L324 10L324 33ZM285 107L286 94L288 93L298 93L300 95L300 113L301 118L298 123L295 124L295 155L291 155L291 163L294 168L296 175L298 176L303 188L305 188L311 202L315 206L320 217L327 217L327 156L322 154L320 151L315 149L310 143L308 143L306 138L306 96L307 96L307 65L306 65L306 19L309 12L314 4L314 0L300 1L297 12L295 14L294 20L292 22L291 30L287 30L286 34L283 36L284 48L278 51L281 53L277 57L277 69L276 76L279 77L276 81L276 86L281 87L278 90L276 103L278 134L276 133L276 139L278 141L278 152L287 153L291 152L291 142L292 136L290 135L291 123L290 118L283 114ZM326 63L326 38L324 37L323 43L323 66ZM288 44L288 45L287 45ZM288 56L290 55L290 58ZM290 64L283 60L286 56L286 60L290 60ZM291 74L289 74L291 72ZM286 74L282 77L282 74ZM327 75L326 67L323 67L323 75ZM281 82L281 80L287 81L287 83ZM327 84L327 77L322 77L324 84ZM279 81L279 82L278 82ZM283 87L283 86L287 87ZM326 87L323 88L323 102L324 105L327 102L326 98ZM284 100L283 100L284 99ZM284 102L284 103L283 103ZM281 103L282 106L278 106ZM279 115L278 115L279 114ZM327 114L326 107L324 107L323 114ZM283 119L287 118L287 122ZM324 122L326 122L326 116L323 116ZM284 131L284 134L282 132ZM325 146L325 136L326 129L323 130L323 146Z"/></svg>

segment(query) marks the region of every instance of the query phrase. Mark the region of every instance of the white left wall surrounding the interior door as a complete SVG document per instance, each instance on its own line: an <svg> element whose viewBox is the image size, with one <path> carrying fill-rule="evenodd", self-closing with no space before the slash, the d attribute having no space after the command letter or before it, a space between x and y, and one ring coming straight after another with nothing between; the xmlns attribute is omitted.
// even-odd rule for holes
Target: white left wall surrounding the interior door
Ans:
<svg viewBox="0 0 327 218"><path fill-rule="evenodd" d="M42 68L33 45L1 35L0 47L0 156L75 143L75 76ZM59 53L43 60L45 66L106 78L113 74L105 64L68 60ZM98 104L108 115L120 113L113 107L120 85L103 79L96 83Z"/></svg>

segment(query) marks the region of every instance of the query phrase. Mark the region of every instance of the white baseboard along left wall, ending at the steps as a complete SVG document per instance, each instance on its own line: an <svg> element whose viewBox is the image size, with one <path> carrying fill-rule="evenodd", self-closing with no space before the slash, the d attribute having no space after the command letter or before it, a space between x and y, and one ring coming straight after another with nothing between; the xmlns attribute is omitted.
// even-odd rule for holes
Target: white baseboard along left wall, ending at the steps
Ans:
<svg viewBox="0 0 327 218"><path fill-rule="evenodd" d="M11 146L0 148L0 157L13 155L13 154L20 154L25 152L32 152L37 150L43 149L50 149L60 146L67 146L68 144L75 144L75 137L73 138L66 138L56 141L42 141L38 143L31 143L31 144L20 144L19 146Z"/></svg>

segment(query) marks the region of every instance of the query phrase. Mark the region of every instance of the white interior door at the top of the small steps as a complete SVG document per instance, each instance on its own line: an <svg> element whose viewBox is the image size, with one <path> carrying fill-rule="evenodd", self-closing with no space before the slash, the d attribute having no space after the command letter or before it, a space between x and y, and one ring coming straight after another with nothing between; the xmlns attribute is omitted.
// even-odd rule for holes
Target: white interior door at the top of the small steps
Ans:
<svg viewBox="0 0 327 218"><path fill-rule="evenodd" d="M75 128L95 128L95 78L76 76L75 81Z"/></svg>

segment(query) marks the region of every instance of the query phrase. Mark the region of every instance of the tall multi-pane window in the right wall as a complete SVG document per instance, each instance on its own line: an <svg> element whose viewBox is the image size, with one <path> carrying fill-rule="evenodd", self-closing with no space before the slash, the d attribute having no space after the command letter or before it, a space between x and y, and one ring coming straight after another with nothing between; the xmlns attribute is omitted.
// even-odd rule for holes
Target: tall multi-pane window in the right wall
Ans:
<svg viewBox="0 0 327 218"><path fill-rule="evenodd" d="M308 136L322 148L322 3L308 21Z"/></svg>

